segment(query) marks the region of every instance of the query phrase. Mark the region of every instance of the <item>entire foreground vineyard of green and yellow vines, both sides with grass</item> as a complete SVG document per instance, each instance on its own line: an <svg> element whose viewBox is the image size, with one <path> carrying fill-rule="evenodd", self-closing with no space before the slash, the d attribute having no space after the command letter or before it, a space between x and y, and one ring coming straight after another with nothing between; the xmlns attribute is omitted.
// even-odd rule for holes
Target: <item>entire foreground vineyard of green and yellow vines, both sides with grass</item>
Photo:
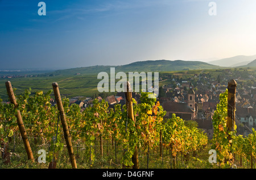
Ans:
<svg viewBox="0 0 256 180"><path fill-rule="evenodd" d="M56 84L55 105L50 103L52 90L31 95L29 89L18 97L11 85L7 91L12 103L0 103L3 168L180 168L181 161L196 158L209 146L205 133L175 114L163 119L163 107L148 98L152 93L142 92L139 104L126 93L126 104L114 108L94 99L93 106L81 111L60 98ZM236 135L236 125L228 128L227 102L228 90L213 116L216 167L233 167L236 157L253 168L256 133L242 137Z"/></svg>

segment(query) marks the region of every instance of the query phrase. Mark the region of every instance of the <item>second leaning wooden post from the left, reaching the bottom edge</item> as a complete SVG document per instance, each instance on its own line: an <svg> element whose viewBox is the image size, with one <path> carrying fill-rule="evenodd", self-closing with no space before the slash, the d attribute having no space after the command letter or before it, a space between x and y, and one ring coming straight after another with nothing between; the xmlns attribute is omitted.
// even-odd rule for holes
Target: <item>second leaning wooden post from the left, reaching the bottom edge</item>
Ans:
<svg viewBox="0 0 256 180"><path fill-rule="evenodd" d="M53 87L55 99L57 101L57 107L58 107L58 110L60 112L60 120L61 120L61 124L62 124L62 127L63 127L64 137L65 137L65 141L66 141L66 144L67 144L68 153L69 153L69 157L70 157L70 160L71 160L72 168L76 169L77 168L76 158L75 158L75 154L73 152L71 135L69 133L68 124L67 124L67 121L66 121L66 118L65 118L65 112L64 112L63 104L61 102L60 91L59 91L59 86L58 86L57 82L53 82L52 87Z"/></svg>

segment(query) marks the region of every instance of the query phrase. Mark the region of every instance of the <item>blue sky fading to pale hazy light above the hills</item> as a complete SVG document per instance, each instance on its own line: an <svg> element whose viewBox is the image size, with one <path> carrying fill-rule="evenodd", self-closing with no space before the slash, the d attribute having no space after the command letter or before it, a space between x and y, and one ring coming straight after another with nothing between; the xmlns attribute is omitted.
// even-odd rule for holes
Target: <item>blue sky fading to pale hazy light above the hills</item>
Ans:
<svg viewBox="0 0 256 180"><path fill-rule="evenodd" d="M0 70L256 55L255 0L39 2L0 0Z"/></svg>

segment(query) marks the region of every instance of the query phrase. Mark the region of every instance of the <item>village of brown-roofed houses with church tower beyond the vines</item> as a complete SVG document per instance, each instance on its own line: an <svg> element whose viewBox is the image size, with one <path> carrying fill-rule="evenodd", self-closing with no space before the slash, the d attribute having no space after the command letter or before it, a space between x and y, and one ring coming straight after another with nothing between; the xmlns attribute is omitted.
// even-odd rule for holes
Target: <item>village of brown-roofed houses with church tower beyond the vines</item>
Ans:
<svg viewBox="0 0 256 180"><path fill-rule="evenodd" d="M171 78L170 84L159 87L157 98L157 101L166 111L164 119L171 118L172 114L176 114L181 119L196 121L198 128L203 129L209 139L212 139L212 118L219 102L219 96L227 89L230 77L234 77L232 73L228 72L226 74L226 76L218 77L218 79L212 79L204 73L195 74L195 76L188 79L176 79L175 76L160 77L159 82ZM246 79L253 79L254 81L254 77L251 75ZM256 127L256 85L247 86L244 83L246 79L241 76L235 78L238 84L236 90L237 133L243 136L247 136L252 132L251 128ZM99 101L105 99L109 108L114 108L114 105L118 103L125 104L125 93L117 93L106 97L96 95L94 98L86 97L81 101L82 98L84 97L73 97L69 101L71 104L79 104L81 111L88 106L92 106L94 98ZM133 98L137 103L140 103L139 93L133 93Z"/></svg>

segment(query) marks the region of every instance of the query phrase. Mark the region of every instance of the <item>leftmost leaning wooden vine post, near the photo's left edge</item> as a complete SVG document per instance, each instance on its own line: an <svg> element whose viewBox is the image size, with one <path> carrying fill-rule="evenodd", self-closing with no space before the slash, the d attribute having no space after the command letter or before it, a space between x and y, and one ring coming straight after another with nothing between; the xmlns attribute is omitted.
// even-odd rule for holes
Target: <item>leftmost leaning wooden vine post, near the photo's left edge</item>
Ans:
<svg viewBox="0 0 256 180"><path fill-rule="evenodd" d="M34 156L32 154L32 150L31 150L31 147L30 147L30 143L29 143L28 138L27 138L27 132L26 132L26 129L25 129L24 124L23 124L22 116L20 114L20 111L18 110L18 103L16 102L16 98L15 98L15 95L13 93L13 87L11 86L11 82L10 81L5 82L5 86L6 86L10 101L11 101L11 103L14 104L14 108L16 109L15 116L16 116L16 119L17 119L17 124L18 124L18 127L19 127L20 135L22 136L22 140L23 140L26 152L27 152L28 160L32 160L32 162L35 162Z"/></svg>

